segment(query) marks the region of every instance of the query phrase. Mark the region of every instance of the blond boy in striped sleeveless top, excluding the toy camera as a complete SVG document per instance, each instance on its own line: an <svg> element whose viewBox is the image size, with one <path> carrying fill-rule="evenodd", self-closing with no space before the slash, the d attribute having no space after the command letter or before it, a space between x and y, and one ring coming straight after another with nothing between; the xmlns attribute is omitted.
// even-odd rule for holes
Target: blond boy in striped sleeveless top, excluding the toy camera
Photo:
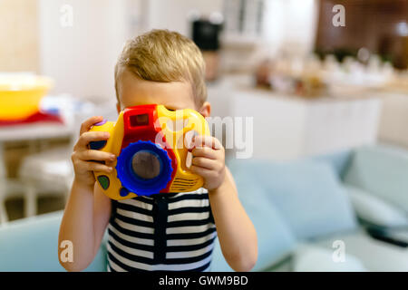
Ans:
<svg viewBox="0 0 408 290"><path fill-rule="evenodd" d="M125 45L116 64L117 110L157 103L209 117L204 72L199 48L187 37L167 30L143 34ZM90 141L109 139L107 132L89 132L99 121L102 117L83 122L73 149L75 179L59 235L59 244L73 242L73 262L60 260L65 269L81 271L91 264L106 227L108 271L208 271L217 236L234 270L255 265L257 233L238 200L219 140L198 136L189 145L190 169L204 179L204 189L117 201L102 193L92 174L111 172L116 159L88 149Z"/></svg>

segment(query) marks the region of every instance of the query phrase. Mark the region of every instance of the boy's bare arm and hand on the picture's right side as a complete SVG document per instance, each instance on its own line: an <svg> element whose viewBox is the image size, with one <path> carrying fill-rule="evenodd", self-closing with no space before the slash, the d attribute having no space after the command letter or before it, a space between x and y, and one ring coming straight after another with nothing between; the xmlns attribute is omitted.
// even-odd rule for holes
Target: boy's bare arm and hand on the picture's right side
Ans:
<svg viewBox="0 0 408 290"><path fill-rule="evenodd" d="M202 146L199 148L199 146ZM225 166L225 150L213 137L196 137L191 170L205 180L222 254L235 271L257 262L257 232L238 199L234 179Z"/></svg>

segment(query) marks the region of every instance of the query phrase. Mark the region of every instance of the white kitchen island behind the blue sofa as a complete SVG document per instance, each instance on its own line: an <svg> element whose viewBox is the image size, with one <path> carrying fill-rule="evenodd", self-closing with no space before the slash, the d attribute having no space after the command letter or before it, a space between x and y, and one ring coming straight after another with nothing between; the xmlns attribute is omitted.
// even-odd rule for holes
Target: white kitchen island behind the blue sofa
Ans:
<svg viewBox="0 0 408 290"><path fill-rule="evenodd" d="M380 98L306 100L273 92L209 87L212 115L253 117L253 158L294 160L377 140Z"/></svg>

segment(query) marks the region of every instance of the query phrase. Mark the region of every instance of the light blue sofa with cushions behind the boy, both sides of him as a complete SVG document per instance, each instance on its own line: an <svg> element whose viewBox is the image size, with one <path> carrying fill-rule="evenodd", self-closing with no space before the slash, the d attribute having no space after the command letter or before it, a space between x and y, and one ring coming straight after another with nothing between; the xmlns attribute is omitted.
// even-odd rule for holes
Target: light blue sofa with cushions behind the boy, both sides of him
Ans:
<svg viewBox="0 0 408 290"><path fill-rule="evenodd" d="M407 151L374 146L292 162L230 160L228 167L257 228L254 271L408 270L406 251L361 227L408 225ZM0 271L64 271L61 218L56 212L0 227ZM333 257L336 241L345 243L344 263ZM104 242L86 270L105 269ZM231 270L218 243L212 270Z"/></svg>

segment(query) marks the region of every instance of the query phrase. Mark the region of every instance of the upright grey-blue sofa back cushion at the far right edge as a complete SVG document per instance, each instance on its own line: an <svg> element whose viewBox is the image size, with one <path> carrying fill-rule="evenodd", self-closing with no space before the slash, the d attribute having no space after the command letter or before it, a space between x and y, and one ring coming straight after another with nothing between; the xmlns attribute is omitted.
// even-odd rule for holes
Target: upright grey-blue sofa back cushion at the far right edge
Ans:
<svg viewBox="0 0 408 290"><path fill-rule="evenodd" d="M355 150L344 181L408 213L407 150L385 146Z"/></svg>

